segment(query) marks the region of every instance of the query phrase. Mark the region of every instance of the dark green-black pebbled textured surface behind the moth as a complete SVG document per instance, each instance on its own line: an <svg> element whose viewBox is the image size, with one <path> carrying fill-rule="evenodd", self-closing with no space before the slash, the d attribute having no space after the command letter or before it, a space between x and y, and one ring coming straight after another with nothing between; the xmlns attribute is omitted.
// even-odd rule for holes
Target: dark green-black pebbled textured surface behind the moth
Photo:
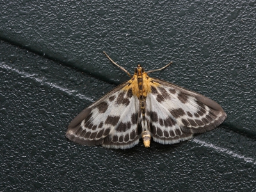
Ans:
<svg viewBox="0 0 256 192"><path fill-rule="evenodd" d="M0 2L0 191L255 190L254 1ZM172 60L151 76L216 100L227 120L149 149L69 142L72 118L128 79L102 51L129 72Z"/></svg>

